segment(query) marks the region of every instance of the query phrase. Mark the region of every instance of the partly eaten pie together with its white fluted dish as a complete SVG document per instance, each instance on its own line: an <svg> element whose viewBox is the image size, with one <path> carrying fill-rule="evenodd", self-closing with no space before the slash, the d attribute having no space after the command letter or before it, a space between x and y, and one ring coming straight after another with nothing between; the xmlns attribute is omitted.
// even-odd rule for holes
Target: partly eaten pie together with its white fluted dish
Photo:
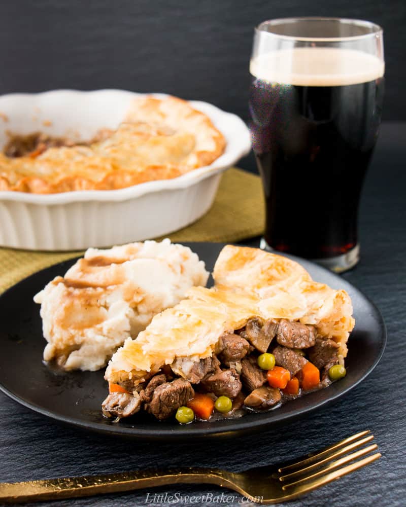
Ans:
<svg viewBox="0 0 406 507"><path fill-rule="evenodd" d="M207 102L52 90L0 96L0 150L0 245L84 250L195 222L251 139Z"/></svg>

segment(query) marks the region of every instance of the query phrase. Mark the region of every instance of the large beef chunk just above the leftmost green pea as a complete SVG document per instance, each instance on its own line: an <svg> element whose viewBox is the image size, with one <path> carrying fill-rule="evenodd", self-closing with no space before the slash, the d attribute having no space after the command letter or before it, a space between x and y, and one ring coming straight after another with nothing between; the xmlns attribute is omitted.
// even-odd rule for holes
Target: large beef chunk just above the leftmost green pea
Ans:
<svg viewBox="0 0 406 507"><path fill-rule="evenodd" d="M145 409L157 419L166 419L179 407L186 405L193 396L194 390L190 383L184 379L176 379L158 385L154 389L151 401L145 404Z"/></svg>

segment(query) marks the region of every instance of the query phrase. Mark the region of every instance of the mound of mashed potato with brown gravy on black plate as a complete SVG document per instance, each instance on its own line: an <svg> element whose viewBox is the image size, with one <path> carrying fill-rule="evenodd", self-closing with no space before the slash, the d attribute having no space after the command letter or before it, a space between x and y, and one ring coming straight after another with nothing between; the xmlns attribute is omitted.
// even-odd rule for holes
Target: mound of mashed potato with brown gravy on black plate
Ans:
<svg viewBox="0 0 406 507"><path fill-rule="evenodd" d="M208 276L196 253L168 239L89 248L34 297L48 341L44 359L65 370L104 367L126 338Z"/></svg>

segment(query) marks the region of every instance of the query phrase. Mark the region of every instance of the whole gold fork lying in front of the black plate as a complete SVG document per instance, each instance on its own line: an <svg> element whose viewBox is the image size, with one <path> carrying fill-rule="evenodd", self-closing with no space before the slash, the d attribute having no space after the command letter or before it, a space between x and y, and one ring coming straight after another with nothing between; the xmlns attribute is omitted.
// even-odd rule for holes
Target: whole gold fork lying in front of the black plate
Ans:
<svg viewBox="0 0 406 507"><path fill-rule="evenodd" d="M254 502L279 503L308 493L380 458L381 454L375 453L358 460L377 449L376 444L347 455L373 438L369 430L361 431L295 463L262 466L240 473L190 467L0 483L0 502L55 500L168 484L205 483L233 489Z"/></svg>

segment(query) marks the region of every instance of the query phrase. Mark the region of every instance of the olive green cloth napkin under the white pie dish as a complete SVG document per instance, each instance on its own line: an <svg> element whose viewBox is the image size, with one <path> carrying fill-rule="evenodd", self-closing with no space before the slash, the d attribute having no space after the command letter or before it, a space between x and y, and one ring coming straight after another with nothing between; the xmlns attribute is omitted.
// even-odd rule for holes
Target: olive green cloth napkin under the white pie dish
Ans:
<svg viewBox="0 0 406 507"><path fill-rule="evenodd" d="M232 168L224 173L211 209L194 224L166 237L177 243L228 243L259 236L263 232L263 224L264 207L259 176ZM81 253L0 248L0 293L31 273Z"/></svg>

